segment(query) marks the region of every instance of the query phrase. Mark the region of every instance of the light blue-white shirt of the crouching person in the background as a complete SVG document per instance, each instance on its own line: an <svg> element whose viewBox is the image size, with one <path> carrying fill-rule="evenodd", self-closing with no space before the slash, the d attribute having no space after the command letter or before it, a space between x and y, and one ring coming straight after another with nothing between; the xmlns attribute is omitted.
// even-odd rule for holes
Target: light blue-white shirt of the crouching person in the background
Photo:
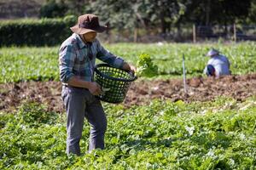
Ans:
<svg viewBox="0 0 256 170"><path fill-rule="evenodd" d="M224 55L213 56L209 59L207 65L212 65L216 71L216 76L230 75L230 61ZM207 67L204 73L207 72Z"/></svg>

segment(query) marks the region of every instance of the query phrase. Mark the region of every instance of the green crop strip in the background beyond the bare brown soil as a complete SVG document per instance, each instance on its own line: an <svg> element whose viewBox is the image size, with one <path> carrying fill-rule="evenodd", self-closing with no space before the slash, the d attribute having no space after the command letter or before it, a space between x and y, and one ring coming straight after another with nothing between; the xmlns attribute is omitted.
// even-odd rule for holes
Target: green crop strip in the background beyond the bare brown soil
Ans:
<svg viewBox="0 0 256 170"><path fill-rule="evenodd" d="M209 48L218 48L231 62L233 74L255 72L256 44L242 43L171 43L155 44L117 43L106 45L113 54L123 57L133 65L140 54L149 54L159 67L158 77L182 77L182 55L188 77L200 76L207 64ZM59 80L58 48L0 48L0 82ZM98 61L99 62L99 61ZM154 77L157 78L157 77Z"/></svg>

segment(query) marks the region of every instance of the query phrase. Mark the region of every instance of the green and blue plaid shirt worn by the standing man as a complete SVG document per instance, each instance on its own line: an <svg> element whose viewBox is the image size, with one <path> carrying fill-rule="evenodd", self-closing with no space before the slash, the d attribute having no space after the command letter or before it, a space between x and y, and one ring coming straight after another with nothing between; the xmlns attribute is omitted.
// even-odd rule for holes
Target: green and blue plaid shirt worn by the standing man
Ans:
<svg viewBox="0 0 256 170"><path fill-rule="evenodd" d="M96 58L116 68L121 68L124 63L123 59L103 48L97 39L91 44L84 43L78 34L73 33L60 48L61 82L67 83L73 76L92 82Z"/></svg>

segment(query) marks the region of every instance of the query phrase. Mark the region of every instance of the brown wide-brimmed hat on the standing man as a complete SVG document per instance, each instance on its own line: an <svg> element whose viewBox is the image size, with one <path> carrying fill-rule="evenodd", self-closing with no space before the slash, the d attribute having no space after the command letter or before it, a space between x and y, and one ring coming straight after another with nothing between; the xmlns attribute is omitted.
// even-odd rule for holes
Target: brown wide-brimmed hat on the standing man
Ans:
<svg viewBox="0 0 256 170"><path fill-rule="evenodd" d="M85 34L87 32L102 32L107 29L107 26L100 26L99 19L95 14L83 14L79 16L76 26L70 28L74 33Z"/></svg>

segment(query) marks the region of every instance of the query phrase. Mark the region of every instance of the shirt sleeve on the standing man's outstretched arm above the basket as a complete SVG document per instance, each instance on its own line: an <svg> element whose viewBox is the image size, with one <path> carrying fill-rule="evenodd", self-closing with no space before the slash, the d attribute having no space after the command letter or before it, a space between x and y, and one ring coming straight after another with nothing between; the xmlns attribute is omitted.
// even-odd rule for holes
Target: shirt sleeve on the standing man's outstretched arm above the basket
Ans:
<svg viewBox="0 0 256 170"><path fill-rule="evenodd" d="M96 58L101 59L103 62L108 63L108 65L112 65L116 68L122 68L124 65L124 59L110 53L107 49L103 48L100 42L97 44L97 54Z"/></svg>

